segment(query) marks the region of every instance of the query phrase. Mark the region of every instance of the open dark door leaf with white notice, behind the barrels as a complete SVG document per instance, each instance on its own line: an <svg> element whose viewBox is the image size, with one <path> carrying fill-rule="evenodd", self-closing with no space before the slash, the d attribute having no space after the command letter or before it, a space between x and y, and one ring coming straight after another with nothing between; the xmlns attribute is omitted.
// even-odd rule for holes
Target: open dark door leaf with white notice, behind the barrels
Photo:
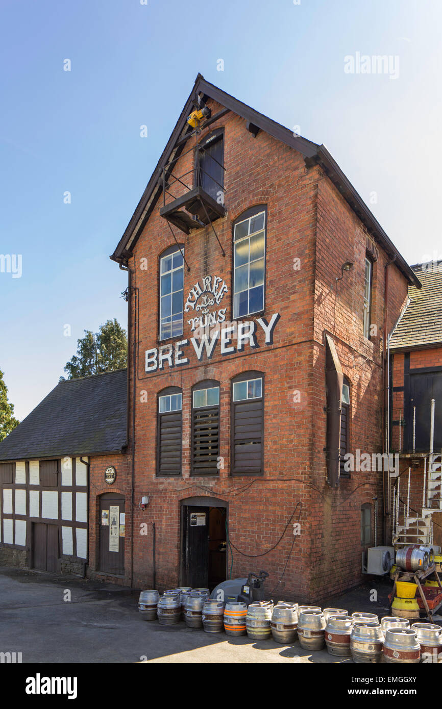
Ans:
<svg viewBox="0 0 442 709"><path fill-rule="evenodd" d="M183 506L183 584L208 588L209 507Z"/></svg>

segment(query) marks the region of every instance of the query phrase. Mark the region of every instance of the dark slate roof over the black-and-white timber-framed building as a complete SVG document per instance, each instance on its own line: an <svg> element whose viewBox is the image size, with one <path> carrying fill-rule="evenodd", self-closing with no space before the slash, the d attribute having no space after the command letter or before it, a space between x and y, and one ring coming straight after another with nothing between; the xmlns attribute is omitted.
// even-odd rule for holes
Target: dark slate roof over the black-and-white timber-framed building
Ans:
<svg viewBox="0 0 442 709"><path fill-rule="evenodd" d="M60 381L0 442L0 460L120 451L126 401L127 369Z"/></svg>

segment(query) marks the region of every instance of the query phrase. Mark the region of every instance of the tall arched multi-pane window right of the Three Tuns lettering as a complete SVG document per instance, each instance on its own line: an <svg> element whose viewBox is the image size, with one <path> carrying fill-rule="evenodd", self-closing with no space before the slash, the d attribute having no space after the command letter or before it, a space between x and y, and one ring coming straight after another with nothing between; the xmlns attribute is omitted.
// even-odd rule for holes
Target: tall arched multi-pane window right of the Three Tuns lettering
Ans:
<svg viewBox="0 0 442 709"><path fill-rule="evenodd" d="M233 318L264 310L266 223L263 205L233 223Z"/></svg>

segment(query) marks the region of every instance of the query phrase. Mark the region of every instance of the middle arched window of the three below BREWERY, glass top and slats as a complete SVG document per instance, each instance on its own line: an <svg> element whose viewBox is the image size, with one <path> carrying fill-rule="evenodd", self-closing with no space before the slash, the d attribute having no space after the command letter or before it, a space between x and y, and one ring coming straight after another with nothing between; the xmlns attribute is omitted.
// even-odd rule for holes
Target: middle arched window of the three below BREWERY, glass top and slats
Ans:
<svg viewBox="0 0 442 709"><path fill-rule="evenodd" d="M192 389L192 475L218 475L219 381L206 379Z"/></svg>

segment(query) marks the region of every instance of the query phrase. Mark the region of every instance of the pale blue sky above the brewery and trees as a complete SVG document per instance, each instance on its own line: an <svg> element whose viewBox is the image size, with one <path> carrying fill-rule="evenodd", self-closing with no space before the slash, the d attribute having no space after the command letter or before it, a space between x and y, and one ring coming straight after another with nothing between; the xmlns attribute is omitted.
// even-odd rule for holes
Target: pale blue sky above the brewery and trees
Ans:
<svg viewBox="0 0 442 709"><path fill-rule="evenodd" d="M84 329L126 327L126 274L109 254L198 72L324 143L409 263L442 257L440 2L0 8L0 253L22 256L20 278L0 273L0 369L18 418L57 384ZM399 57L397 77L346 73L356 52Z"/></svg>

